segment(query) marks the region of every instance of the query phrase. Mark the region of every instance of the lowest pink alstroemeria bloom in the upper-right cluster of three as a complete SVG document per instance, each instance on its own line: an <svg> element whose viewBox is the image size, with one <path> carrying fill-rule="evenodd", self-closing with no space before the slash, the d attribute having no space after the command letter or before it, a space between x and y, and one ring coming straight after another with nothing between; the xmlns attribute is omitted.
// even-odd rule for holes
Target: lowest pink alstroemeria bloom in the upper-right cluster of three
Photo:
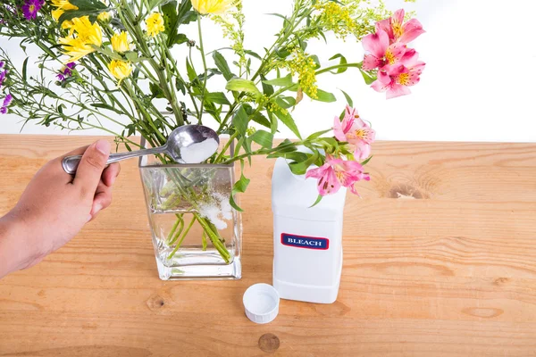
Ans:
<svg viewBox="0 0 536 357"><path fill-rule="evenodd" d="M398 64L389 66L386 71L378 71L378 79L372 87L377 92L387 92L387 99L400 95L409 95L409 87L421 80L420 76L426 65L418 61L419 54L415 51L405 54Z"/></svg>

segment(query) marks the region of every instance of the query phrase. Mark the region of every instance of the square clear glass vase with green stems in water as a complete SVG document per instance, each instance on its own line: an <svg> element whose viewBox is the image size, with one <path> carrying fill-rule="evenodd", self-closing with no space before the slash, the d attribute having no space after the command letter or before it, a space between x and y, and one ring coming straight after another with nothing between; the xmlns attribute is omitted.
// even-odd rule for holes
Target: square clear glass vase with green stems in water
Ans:
<svg viewBox="0 0 536 357"><path fill-rule="evenodd" d="M164 165L149 155L139 172L159 277L241 278L242 221L230 205L234 165Z"/></svg>

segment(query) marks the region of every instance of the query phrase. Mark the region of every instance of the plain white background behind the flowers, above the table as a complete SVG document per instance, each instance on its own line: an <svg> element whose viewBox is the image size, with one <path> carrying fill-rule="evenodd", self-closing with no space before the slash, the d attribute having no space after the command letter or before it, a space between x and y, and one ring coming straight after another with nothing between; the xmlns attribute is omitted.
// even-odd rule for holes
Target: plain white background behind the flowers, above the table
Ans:
<svg viewBox="0 0 536 357"><path fill-rule="evenodd" d="M387 0L390 10L415 10L427 31L411 46L427 63L413 94L385 100L383 94L364 85L357 71L320 79L322 89L338 96L337 104L306 99L294 117L303 133L331 127L342 110L344 97L353 98L361 116L373 123L379 139L437 141L536 142L536 40L532 0L418 0L406 4ZM247 46L261 51L270 44L279 21L267 12L288 12L289 0L244 0ZM214 28L215 30L215 28ZM222 46L206 29L207 50ZM0 38L15 62L23 61L17 44ZM335 40L325 46L311 44L308 51L322 54L322 62L343 53L349 62L363 57L360 44ZM181 54L177 54L181 55ZM327 64L325 62L324 64ZM0 116L0 133L18 133L21 118ZM29 123L23 133L67 134ZM87 131L85 134L96 134ZM82 134L82 133L80 133ZM98 134L98 133L97 133ZM281 137L292 137L281 129Z"/></svg>

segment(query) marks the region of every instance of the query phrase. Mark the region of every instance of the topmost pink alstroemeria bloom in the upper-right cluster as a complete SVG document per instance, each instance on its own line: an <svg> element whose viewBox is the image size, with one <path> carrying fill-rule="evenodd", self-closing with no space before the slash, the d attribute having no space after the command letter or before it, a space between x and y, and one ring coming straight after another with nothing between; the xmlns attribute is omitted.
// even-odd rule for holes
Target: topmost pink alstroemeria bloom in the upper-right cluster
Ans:
<svg viewBox="0 0 536 357"><path fill-rule="evenodd" d="M397 10L392 17L376 22L376 29L384 30L389 36L389 43L408 44L424 32L423 25L417 19L404 22L404 9Z"/></svg>

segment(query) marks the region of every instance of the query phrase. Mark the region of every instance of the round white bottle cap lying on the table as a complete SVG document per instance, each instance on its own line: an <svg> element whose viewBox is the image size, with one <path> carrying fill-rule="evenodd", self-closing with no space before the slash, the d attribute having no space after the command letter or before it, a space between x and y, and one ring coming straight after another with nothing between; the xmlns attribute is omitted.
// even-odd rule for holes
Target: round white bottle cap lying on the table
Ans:
<svg viewBox="0 0 536 357"><path fill-rule="evenodd" d="M258 324L272 322L279 313L279 294L268 284L249 286L244 293L246 316Z"/></svg>

